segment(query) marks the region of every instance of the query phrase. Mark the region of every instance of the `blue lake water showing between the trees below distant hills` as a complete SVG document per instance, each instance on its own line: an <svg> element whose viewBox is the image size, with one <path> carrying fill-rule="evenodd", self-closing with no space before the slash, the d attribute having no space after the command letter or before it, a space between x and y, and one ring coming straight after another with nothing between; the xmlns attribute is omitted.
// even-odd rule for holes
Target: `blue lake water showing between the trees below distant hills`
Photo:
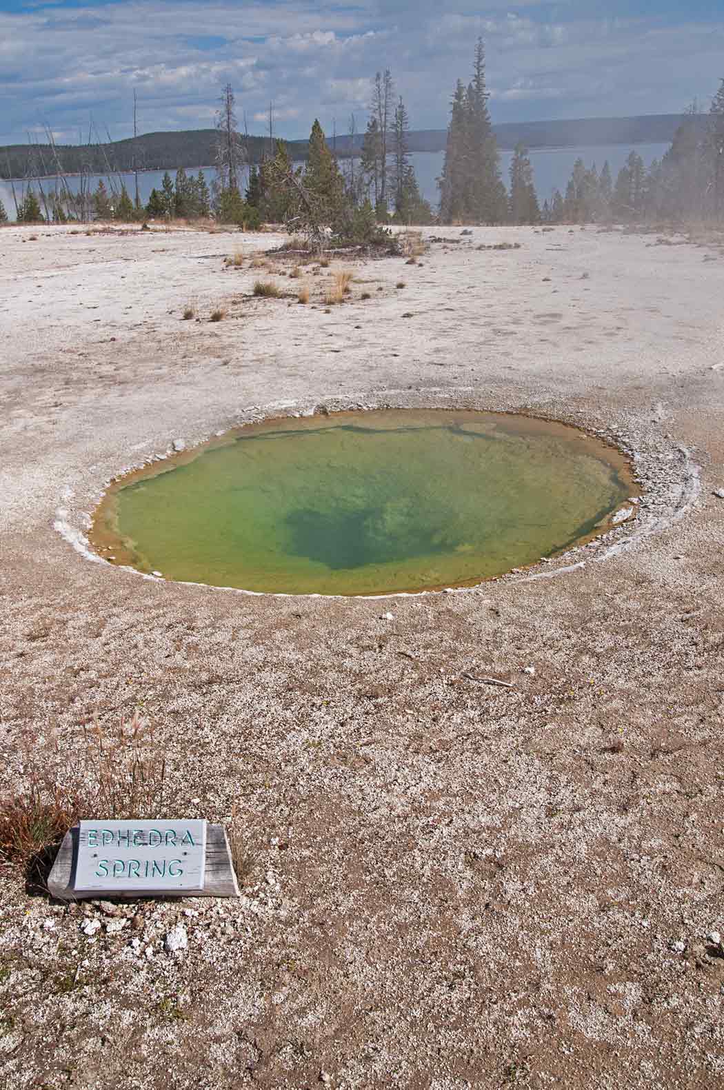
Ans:
<svg viewBox="0 0 724 1090"><path fill-rule="evenodd" d="M668 147L668 144L641 144L635 146L630 146L628 144L617 144L606 147L544 148L540 152L531 152L530 158L533 167L533 175L535 179L535 189L538 191L539 199L541 204L543 204L543 201L550 199L554 189L560 190L560 192L565 195L566 183L570 178L574 164L578 158L582 158L587 167L590 167L591 164L595 162L599 170L603 164L608 160L608 166L611 167L611 172L615 181L616 174L624 166L629 152L636 150L641 156L647 167L649 167L654 159L661 159ZM444 153L419 152L411 156L411 159L418 175L420 190L423 196L430 201L435 208L439 198L437 179L443 170ZM500 167L506 184L508 182L508 171L510 169L511 159L512 152L500 153ZM172 171L170 171L170 173L173 175ZM192 171L189 171L189 173L192 173ZM205 168L204 174L210 186L215 177L214 169L210 167ZM92 190L95 190L100 177L101 175L99 174L90 175L89 183ZM102 177L106 185L110 187L110 183L106 175ZM144 204L147 203L152 189L155 187L160 190L162 177L162 170L148 170L138 174L138 189L141 192L141 199ZM68 181L71 190L76 192L80 186L80 179L69 178ZM135 192L133 174L116 174L112 175L111 181L117 192L120 192L121 181L124 182L131 198L133 198L133 194ZM23 183L17 181L15 184L16 187L20 189ZM53 182L51 180L44 181L44 187L46 191L52 190ZM0 199L2 199L8 216L11 219L14 219L15 213L11 186L9 182L3 180L0 180Z"/></svg>

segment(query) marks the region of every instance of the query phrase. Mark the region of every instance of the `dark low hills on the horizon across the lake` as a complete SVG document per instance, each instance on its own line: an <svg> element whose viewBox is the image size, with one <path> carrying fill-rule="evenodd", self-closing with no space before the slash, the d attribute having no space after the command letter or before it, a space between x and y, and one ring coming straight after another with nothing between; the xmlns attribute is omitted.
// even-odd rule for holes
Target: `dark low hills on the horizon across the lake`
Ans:
<svg viewBox="0 0 724 1090"><path fill-rule="evenodd" d="M679 113L655 113L637 118L582 118L571 121L522 121L495 125L495 135L503 149L510 149L522 141L529 148L586 147L606 144L654 144L669 142L681 123ZM696 119L705 123L705 116ZM445 147L444 129L422 129L410 133L411 152L442 152ZM183 132L146 133L138 136L135 155L140 170L177 170L179 167L212 166L214 162L214 129L191 129ZM250 136L249 156L258 162L268 150L269 141ZM289 141L294 159L305 159L306 141ZM329 140L329 144L333 141ZM337 136L336 152L347 156L359 150L362 134L352 144L349 136ZM53 152L47 144L12 144L0 147L0 178L27 178L56 172L56 153L67 173L111 173L133 169L133 140L113 141L108 144L59 145Z"/></svg>

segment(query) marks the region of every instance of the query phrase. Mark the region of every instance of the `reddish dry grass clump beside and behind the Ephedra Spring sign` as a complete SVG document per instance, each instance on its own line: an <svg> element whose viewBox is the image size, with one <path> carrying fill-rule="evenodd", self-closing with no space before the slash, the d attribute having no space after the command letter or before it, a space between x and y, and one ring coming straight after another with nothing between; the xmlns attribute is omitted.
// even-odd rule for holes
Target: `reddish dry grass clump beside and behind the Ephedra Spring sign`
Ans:
<svg viewBox="0 0 724 1090"><path fill-rule="evenodd" d="M166 807L166 754L136 712L114 732L84 728L82 751L25 739L26 786L0 796L0 859L45 886L65 833L83 818L156 819Z"/></svg>

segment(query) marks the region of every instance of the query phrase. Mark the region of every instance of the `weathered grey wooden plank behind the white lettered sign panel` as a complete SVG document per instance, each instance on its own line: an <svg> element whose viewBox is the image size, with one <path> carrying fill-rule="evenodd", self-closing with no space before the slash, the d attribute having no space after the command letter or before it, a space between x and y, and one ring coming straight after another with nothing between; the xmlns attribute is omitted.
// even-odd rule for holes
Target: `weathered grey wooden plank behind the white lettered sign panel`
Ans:
<svg viewBox="0 0 724 1090"><path fill-rule="evenodd" d="M145 887L134 891L110 893L105 889L84 891L75 888L75 872L79 856L79 828L65 834L48 880L48 892L59 900L84 900L106 897L112 899L137 899L140 897L239 897L239 885L231 862L231 849L224 825L206 826L206 850L204 860L204 885L201 889L169 891Z"/></svg>

